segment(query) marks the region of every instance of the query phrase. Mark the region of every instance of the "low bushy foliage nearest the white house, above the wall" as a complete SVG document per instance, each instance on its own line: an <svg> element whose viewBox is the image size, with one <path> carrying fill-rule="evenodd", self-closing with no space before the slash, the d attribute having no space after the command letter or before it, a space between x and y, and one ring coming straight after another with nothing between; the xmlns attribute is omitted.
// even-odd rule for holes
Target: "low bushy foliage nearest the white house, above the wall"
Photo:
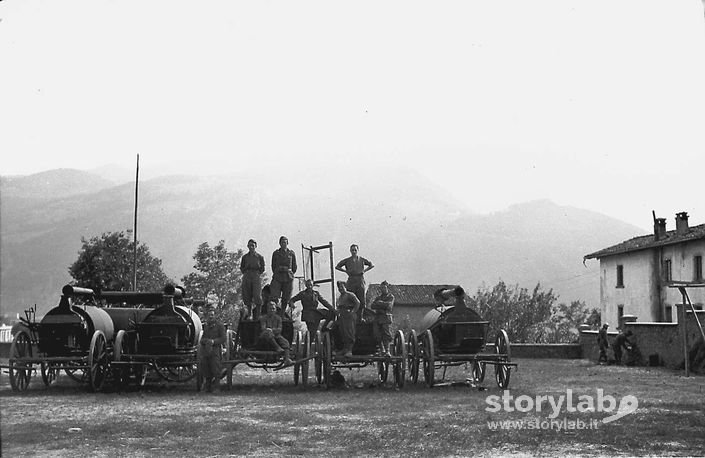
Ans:
<svg viewBox="0 0 705 458"><path fill-rule="evenodd" d="M558 304L551 308L551 316L534 328L532 341L537 343L576 343L580 340L578 326L599 326L600 312L589 310L584 302L573 301L570 305Z"/></svg>

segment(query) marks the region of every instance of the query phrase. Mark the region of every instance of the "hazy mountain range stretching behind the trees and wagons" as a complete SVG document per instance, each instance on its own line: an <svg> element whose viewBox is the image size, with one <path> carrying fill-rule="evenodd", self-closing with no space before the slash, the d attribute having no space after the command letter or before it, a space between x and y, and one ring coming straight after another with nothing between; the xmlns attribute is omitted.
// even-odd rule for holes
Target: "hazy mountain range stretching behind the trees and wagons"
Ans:
<svg viewBox="0 0 705 458"><path fill-rule="evenodd" d="M82 238L132 228L135 183L118 176L103 168L0 177L2 314L37 304L41 316L71 281ZM561 302L597 307L599 266L583 265L583 256L641 232L547 200L477 214L404 168L169 175L141 180L138 195L138 238L176 281L192 270L202 242L222 239L235 250L254 238L269 262L287 235L299 256L302 245L332 242L335 261L357 243L375 264L368 282L457 283L470 291L500 279L527 288L540 282Z"/></svg>

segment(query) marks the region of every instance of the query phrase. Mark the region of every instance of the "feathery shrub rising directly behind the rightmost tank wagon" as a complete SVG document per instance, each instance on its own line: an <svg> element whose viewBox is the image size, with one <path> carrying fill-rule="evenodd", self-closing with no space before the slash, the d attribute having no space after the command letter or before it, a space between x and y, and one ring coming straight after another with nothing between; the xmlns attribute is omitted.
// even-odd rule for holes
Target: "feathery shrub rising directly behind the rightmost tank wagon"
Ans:
<svg viewBox="0 0 705 458"><path fill-rule="evenodd" d="M526 342L532 335L532 328L551 316L556 299L553 290L542 291L540 283L529 292L519 285L508 286L500 281L492 289L480 287L475 296L469 298L468 305L490 322L488 336L504 329L511 342Z"/></svg>

